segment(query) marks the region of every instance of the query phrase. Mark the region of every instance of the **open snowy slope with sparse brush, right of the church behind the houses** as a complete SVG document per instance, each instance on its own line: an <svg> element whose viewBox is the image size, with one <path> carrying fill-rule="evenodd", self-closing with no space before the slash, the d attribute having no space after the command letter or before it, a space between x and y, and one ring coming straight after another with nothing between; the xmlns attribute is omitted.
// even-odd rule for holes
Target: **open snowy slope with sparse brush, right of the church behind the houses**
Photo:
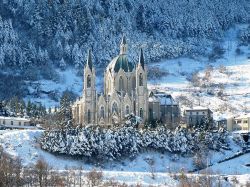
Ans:
<svg viewBox="0 0 250 187"><path fill-rule="evenodd" d="M223 48L225 53L223 58L215 62L209 62L208 59L189 59L179 58L162 61L150 66L158 66L161 70L169 72L169 75L161 79L151 80L150 89L160 89L175 98L185 96L192 102L193 106L209 106L214 117L231 116L250 112L250 46L240 46L241 54L236 54L238 47L237 33L246 25L237 26L230 29L225 37ZM206 89L194 87L187 77L193 72L203 77L204 71L208 66L213 67L210 82L214 85L223 84L223 97L216 94L207 94ZM226 68L225 72L220 71L220 67ZM150 71L150 68L149 68ZM218 87L211 87L216 92ZM180 101L182 111L187 106Z"/></svg>

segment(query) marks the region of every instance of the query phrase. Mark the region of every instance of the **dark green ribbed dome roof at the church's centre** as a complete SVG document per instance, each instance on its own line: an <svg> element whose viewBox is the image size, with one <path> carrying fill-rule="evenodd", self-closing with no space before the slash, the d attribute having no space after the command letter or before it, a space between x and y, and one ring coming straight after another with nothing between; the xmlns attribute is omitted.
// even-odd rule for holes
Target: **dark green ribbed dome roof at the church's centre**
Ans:
<svg viewBox="0 0 250 187"><path fill-rule="evenodd" d="M131 72L134 69L134 64L128 61L127 55L120 54L115 57L108 65L108 70L117 73L120 69L125 72Z"/></svg>

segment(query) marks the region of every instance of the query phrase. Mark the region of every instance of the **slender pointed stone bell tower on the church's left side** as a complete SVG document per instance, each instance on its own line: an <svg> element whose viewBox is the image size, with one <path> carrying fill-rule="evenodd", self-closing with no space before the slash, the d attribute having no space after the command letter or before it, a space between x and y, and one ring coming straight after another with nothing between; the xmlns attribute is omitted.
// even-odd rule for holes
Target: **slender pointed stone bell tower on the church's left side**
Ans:
<svg viewBox="0 0 250 187"><path fill-rule="evenodd" d="M96 87L95 87L95 68L92 62L91 50L88 50L87 62L84 67L84 123L94 124L96 122Z"/></svg>

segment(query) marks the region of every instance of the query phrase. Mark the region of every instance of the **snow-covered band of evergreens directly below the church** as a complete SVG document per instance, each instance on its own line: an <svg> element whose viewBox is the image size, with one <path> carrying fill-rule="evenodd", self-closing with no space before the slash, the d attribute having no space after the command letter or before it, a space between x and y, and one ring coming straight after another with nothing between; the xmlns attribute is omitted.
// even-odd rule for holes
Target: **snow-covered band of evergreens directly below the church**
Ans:
<svg viewBox="0 0 250 187"><path fill-rule="evenodd" d="M199 146L219 151L227 149L226 132L188 130L164 127L136 129L133 127L85 127L46 131L41 139L43 149L59 154L83 156L89 159L117 160L135 157L147 149L192 155Z"/></svg>

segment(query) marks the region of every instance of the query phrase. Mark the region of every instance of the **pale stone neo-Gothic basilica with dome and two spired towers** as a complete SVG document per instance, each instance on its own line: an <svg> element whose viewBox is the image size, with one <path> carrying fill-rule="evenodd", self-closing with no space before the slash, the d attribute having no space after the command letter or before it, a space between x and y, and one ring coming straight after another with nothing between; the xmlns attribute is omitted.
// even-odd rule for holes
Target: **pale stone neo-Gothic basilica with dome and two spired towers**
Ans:
<svg viewBox="0 0 250 187"><path fill-rule="evenodd" d="M164 117L169 120L175 117L174 115L179 115L178 109L174 107L177 105L172 98L165 94L149 93L147 66L142 49L137 64L134 64L127 57L127 48L128 45L123 36L120 54L111 60L104 72L104 91L101 94L96 92L96 71L91 51L88 51L84 67L83 95L72 106L76 124L115 125L131 113L140 116L142 123L149 119ZM164 98L165 103L162 102ZM171 108L171 114L167 109L168 105ZM164 111L161 106L165 106ZM174 115L173 111L176 111Z"/></svg>

